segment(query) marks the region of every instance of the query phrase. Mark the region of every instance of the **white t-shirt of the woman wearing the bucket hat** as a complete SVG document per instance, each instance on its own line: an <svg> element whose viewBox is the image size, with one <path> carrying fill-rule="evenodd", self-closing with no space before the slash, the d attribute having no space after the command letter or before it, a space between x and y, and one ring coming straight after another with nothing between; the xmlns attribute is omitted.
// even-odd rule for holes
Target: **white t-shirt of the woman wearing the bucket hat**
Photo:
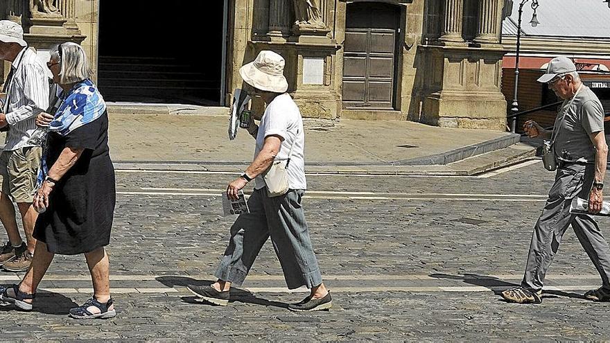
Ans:
<svg viewBox="0 0 610 343"><path fill-rule="evenodd" d="M256 135L256 158L265 144L265 137L277 135L284 138L281 141L281 148L275 157L276 160L288 158L290 146L294 143L293 152L290 155L288 164L288 186L290 189L306 189L305 180L305 133L303 132L303 118L299 107L295 104L289 94L281 94L265 109L265 114L259 125L259 133ZM256 177L256 186L260 189L265 186L265 181L261 175Z"/></svg>

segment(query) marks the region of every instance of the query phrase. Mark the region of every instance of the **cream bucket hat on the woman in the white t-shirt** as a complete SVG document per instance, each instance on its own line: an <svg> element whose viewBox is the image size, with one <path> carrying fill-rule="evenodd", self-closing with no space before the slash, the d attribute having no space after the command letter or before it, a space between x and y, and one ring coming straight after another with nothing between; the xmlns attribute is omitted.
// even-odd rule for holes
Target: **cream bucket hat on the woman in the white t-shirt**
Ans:
<svg viewBox="0 0 610 343"><path fill-rule="evenodd" d="M273 51L263 50L254 62L241 67L239 74L248 85L261 91L284 93L288 89L284 64L286 62L283 57Z"/></svg>

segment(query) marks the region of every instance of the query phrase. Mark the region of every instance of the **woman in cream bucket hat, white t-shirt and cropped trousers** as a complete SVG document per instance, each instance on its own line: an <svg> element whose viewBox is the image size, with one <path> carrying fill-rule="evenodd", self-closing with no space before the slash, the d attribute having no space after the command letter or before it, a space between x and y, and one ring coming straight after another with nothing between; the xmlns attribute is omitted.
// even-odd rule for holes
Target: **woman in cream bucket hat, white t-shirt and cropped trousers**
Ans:
<svg viewBox="0 0 610 343"><path fill-rule="evenodd" d="M218 265L212 285L189 285L189 290L212 304L226 306L231 285L240 286L261 247L271 237L288 288L306 286L311 294L288 308L295 311L331 308L331 294L322 283L309 231L301 206L307 188L305 180L303 120L297 104L286 93L284 58L273 51L261 51L254 62L241 67L240 74L250 93L267 104L260 127L252 123L248 132L256 139L254 161L227 187L227 195L237 199L238 191L252 181L254 192L243 213L231 227L231 239ZM263 175L274 161L286 161L288 191L270 194ZM268 181L269 182L269 181Z"/></svg>

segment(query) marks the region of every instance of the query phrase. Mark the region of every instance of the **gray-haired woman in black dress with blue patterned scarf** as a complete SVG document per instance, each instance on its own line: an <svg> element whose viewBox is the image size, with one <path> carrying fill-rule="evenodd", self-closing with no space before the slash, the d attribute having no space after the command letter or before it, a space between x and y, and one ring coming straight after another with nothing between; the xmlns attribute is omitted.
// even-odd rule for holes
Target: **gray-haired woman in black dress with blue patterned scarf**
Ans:
<svg viewBox="0 0 610 343"><path fill-rule="evenodd" d="M106 105L89 80L91 69L82 47L64 43L50 51L47 63L62 95L57 111L40 114L39 130L48 130L33 206L40 212L38 240L30 269L19 285L0 287L0 306L31 310L38 284L54 254L85 254L94 296L72 308L77 319L116 315L110 297L110 243L116 191L108 149Z"/></svg>

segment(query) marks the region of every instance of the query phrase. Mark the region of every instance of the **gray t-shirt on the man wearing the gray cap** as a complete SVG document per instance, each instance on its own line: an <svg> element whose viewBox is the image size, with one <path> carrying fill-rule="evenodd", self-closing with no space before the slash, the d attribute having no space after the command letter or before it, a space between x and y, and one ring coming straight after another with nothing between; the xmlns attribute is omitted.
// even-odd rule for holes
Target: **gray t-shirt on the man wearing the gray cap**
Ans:
<svg viewBox="0 0 610 343"><path fill-rule="evenodd" d="M561 104L564 108L570 99ZM561 123L563 112L555 119L555 154L557 159L568 162L595 163L595 148L589 134L604 131L604 109L600 99L589 87L582 86L574 102L566 109L566 118Z"/></svg>

